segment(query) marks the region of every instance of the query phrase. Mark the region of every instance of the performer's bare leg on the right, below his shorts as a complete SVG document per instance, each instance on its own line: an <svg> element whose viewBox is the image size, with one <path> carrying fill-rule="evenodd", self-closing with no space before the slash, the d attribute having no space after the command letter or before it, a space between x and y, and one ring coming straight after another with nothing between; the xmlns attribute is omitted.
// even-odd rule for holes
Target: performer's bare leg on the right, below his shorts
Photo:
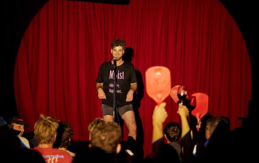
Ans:
<svg viewBox="0 0 259 163"><path fill-rule="evenodd" d="M127 111L121 117L127 125L129 130L129 136L133 137L134 140L137 138L137 125L135 120L135 114L133 111Z"/></svg>

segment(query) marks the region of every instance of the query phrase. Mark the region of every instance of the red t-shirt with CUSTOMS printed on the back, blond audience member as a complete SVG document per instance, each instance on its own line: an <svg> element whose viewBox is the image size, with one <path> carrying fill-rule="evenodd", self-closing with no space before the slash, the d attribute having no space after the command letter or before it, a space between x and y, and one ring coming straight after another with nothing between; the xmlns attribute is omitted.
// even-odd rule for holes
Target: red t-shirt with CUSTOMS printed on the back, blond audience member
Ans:
<svg viewBox="0 0 259 163"><path fill-rule="evenodd" d="M56 148L35 147L34 150L40 152L46 163L71 163L73 157L66 151Z"/></svg>

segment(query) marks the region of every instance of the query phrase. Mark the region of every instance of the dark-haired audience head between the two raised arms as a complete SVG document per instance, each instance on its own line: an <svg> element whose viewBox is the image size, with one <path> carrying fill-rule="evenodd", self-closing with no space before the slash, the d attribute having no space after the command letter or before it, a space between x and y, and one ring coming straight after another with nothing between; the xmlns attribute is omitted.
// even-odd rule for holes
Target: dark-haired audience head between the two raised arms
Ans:
<svg viewBox="0 0 259 163"><path fill-rule="evenodd" d="M178 123L169 122L164 127L164 134L169 142L177 142L181 134L181 127Z"/></svg>

